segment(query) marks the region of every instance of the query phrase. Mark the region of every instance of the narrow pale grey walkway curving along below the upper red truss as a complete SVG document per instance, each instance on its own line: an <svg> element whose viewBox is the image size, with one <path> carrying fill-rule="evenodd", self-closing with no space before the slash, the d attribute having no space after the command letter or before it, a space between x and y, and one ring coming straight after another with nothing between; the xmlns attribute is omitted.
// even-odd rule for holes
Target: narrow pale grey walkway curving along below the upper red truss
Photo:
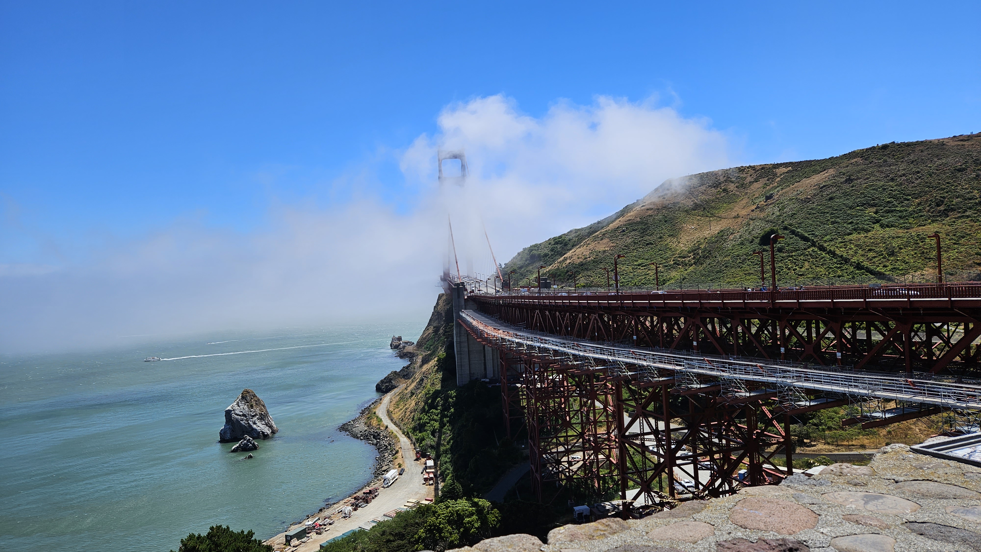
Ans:
<svg viewBox="0 0 981 552"><path fill-rule="evenodd" d="M981 289L981 287L979 287ZM565 297L563 297L565 299ZM956 383L940 378L916 379L869 371L849 371L831 367L815 370L803 364L774 361L748 361L726 357L687 354L585 339L561 337L510 326L476 311L460 311L460 323L483 339L537 349L563 356L593 359L603 363L623 363L649 369L632 378L654 379L659 370L727 379L740 379L798 387L829 393L909 403L936 405L956 410L981 410L981 385Z"/></svg>

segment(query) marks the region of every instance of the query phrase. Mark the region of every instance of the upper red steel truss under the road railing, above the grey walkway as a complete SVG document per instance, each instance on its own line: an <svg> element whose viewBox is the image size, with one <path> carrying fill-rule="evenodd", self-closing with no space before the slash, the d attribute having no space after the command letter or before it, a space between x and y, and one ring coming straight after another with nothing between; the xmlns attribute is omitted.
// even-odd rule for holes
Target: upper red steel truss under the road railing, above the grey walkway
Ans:
<svg viewBox="0 0 981 552"><path fill-rule="evenodd" d="M596 341L906 374L981 364L978 282L470 298L503 322Z"/></svg>

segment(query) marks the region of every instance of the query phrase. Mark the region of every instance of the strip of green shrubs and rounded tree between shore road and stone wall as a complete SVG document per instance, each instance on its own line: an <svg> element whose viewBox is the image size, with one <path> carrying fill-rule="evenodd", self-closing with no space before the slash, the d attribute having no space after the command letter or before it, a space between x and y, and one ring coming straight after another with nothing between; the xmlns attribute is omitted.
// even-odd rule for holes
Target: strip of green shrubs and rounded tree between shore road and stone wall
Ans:
<svg viewBox="0 0 981 552"><path fill-rule="evenodd" d="M414 552L459 548L490 537L500 513L479 498L441 500L401 512L371 530L329 543L326 552Z"/></svg>

